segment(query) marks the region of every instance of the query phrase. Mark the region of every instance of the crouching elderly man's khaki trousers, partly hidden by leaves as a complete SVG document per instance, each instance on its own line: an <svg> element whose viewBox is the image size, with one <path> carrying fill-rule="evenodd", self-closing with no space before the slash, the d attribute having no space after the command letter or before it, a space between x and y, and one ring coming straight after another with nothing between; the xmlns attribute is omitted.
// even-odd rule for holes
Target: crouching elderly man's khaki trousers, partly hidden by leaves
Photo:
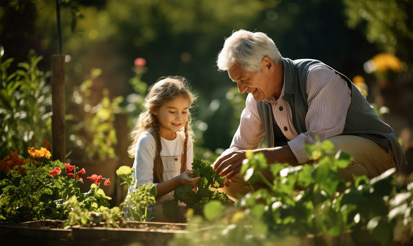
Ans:
<svg viewBox="0 0 413 246"><path fill-rule="evenodd" d="M354 157L354 160L347 168L339 169L339 175L344 180L353 181L353 175L366 175L367 177L372 178L390 168L396 167L396 162L394 161L391 150L387 152L375 142L364 137L338 135L330 137L328 140L334 144L335 152L342 149ZM272 182L273 177L270 170L263 170L263 174L270 182ZM251 187L244 181L241 175L231 178L231 181L229 187L218 189L220 192L225 192L231 200L237 201L240 196L244 196L251 191ZM254 190L269 189L262 180L252 183L251 186Z"/></svg>

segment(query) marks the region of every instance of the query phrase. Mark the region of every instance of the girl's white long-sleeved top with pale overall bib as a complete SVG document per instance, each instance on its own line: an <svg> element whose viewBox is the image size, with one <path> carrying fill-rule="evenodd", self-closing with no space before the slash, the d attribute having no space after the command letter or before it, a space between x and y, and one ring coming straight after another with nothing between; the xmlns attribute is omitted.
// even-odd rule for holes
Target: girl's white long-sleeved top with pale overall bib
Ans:
<svg viewBox="0 0 413 246"><path fill-rule="evenodd" d="M183 144L185 135L183 132L176 132L174 140L166 140L161 137L161 158L164 163L164 181L180 175L181 156L183 154ZM157 154L156 141L150 132L142 132L136 143L135 161L133 168L135 173L133 178L136 185L143 183L153 183L154 160ZM188 140L186 169L192 169L193 144ZM154 183L155 186L157 183ZM133 192L134 187L129 187L129 192ZM173 199L173 191L157 198L157 203Z"/></svg>

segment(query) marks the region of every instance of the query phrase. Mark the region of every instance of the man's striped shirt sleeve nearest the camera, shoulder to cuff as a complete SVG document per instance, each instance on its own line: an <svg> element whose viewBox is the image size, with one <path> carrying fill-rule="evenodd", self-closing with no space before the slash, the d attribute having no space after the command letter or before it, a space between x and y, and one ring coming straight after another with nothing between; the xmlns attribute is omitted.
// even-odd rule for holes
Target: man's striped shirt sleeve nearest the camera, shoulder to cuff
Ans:
<svg viewBox="0 0 413 246"><path fill-rule="evenodd" d="M314 144L343 132L347 111L351 103L351 89L346 80L326 66L320 65L307 76L306 115L307 132L288 142L299 163L309 161L305 144Z"/></svg>

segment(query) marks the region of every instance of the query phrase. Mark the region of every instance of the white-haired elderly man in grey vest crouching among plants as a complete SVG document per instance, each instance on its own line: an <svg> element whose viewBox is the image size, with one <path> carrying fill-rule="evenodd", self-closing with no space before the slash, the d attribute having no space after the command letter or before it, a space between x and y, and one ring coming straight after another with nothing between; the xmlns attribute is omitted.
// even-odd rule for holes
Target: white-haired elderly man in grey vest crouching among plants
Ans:
<svg viewBox="0 0 413 246"><path fill-rule="evenodd" d="M240 93L248 93L230 148L214 163L216 173L230 179L223 189L231 198L250 191L239 175L247 151L263 153L268 163L299 165L309 162L305 144L328 139L336 150L354 156L340 171L346 180L353 174L375 177L389 168L407 169L392 128L354 84L330 66L283 58L266 34L245 30L226 38L217 65L228 71ZM257 149L264 136L268 148Z"/></svg>

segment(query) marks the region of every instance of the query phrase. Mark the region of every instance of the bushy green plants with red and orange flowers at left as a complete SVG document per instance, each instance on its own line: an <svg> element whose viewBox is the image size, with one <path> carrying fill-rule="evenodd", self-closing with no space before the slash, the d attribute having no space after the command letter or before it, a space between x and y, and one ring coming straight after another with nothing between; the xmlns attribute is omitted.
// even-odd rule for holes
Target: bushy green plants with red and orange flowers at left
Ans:
<svg viewBox="0 0 413 246"><path fill-rule="evenodd" d="M46 142L46 145L48 142ZM30 156L26 159L17 151L0 161L4 176L0 180L0 222L2 224L25 222L41 219L67 218L70 207L64 204L75 200L79 208L102 212L109 208L108 199L99 188L102 181L110 184L101 175L91 175L94 184L87 193L80 192L85 169L61 161L51 161L50 152L41 147L28 148Z"/></svg>

